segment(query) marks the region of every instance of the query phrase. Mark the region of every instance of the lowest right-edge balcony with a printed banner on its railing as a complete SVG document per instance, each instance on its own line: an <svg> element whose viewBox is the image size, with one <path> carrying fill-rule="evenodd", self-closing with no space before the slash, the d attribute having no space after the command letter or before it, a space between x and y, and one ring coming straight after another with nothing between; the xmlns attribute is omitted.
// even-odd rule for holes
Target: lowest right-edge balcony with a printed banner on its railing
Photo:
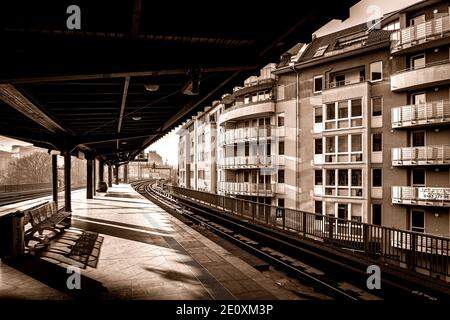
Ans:
<svg viewBox="0 0 450 320"><path fill-rule="evenodd" d="M392 203L450 207L450 188L395 186L392 187Z"/></svg>

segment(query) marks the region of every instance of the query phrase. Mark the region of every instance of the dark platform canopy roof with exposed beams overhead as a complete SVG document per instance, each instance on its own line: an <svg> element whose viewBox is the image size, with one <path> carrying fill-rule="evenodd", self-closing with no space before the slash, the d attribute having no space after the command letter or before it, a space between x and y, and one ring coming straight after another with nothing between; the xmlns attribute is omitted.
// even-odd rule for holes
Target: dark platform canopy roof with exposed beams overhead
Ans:
<svg viewBox="0 0 450 320"><path fill-rule="evenodd" d="M0 135L126 162L356 2L2 1Z"/></svg>

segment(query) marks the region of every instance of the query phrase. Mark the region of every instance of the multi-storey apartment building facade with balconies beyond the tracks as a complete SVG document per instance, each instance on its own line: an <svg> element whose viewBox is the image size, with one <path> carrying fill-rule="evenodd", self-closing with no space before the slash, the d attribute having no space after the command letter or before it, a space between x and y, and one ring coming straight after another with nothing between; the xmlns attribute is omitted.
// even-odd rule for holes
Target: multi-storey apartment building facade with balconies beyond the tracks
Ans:
<svg viewBox="0 0 450 320"><path fill-rule="evenodd" d="M450 235L449 13L313 38L224 96L211 192Z"/></svg>

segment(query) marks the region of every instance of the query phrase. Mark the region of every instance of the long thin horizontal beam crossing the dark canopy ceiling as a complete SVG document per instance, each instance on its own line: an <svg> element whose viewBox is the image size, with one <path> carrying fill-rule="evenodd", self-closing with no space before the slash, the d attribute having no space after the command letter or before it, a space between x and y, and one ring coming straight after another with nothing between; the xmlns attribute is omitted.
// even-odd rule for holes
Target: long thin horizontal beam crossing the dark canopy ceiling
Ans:
<svg viewBox="0 0 450 320"><path fill-rule="evenodd" d="M255 70L256 68L257 68L256 65L210 67L210 68L202 69L202 73ZM39 83L39 84L41 84L43 82L100 80L100 79L112 79L112 78L124 78L124 77L153 77L153 76L170 76L170 75L186 75L186 69L134 71L134 72L130 71L130 72L115 72L115 73L93 73L93 74L29 77L29 78L23 77L23 78L0 79L0 84L2 84L2 83L8 83L8 84Z"/></svg>

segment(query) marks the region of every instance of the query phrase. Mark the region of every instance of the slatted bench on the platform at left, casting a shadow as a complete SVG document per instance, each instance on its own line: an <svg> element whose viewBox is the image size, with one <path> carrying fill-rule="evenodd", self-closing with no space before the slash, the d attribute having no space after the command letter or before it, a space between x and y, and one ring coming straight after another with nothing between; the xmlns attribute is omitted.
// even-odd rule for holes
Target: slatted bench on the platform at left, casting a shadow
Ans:
<svg viewBox="0 0 450 320"><path fill-rule="evenodd" d="M29 247L30 240L35 240L41 245L47 244L50 239L44 231L62 232L67 228L62 221L69 216L70 212L58 212L54 201L25 210L23 219L25 246Z"/></svg>

